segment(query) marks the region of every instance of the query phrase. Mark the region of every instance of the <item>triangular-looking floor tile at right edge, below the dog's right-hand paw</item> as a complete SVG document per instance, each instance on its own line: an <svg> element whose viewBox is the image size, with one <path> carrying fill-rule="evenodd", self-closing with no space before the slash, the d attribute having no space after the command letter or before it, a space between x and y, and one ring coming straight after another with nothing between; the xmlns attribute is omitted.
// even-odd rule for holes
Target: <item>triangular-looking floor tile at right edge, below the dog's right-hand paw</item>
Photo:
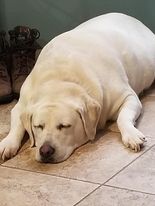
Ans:
<svg viewBox="0 0 155 206"><path fill-rule="evenodd" d="M155 146L107 184L155 194Z"/></svg>

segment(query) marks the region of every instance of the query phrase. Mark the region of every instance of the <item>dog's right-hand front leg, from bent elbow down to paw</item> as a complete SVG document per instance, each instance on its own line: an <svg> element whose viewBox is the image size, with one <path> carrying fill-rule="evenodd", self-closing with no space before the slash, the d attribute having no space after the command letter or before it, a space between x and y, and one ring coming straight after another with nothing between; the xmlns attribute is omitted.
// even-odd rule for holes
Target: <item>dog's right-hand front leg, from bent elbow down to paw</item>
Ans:
<svg viewBox="0 0 155 206"><path fill-rule="evenodd" d="M120 108L117 125L126 147L140 151L145 136L135 128L135 121L141 113L142 105L136 94L129 95Z"/></svg>

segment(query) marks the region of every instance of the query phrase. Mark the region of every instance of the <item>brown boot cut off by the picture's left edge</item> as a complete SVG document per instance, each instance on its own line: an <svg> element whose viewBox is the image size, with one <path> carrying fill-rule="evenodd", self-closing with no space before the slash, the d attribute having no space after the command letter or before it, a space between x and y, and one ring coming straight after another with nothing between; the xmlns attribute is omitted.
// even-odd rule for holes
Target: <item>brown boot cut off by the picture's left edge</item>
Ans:
<svg viewBox="0 0 155 206"><path fill-rule="evenodd" d="M8 103L13 100L11 81L8 72L9 65L9 46L5 38L6 33L0 32L0 104Z"/></svg>

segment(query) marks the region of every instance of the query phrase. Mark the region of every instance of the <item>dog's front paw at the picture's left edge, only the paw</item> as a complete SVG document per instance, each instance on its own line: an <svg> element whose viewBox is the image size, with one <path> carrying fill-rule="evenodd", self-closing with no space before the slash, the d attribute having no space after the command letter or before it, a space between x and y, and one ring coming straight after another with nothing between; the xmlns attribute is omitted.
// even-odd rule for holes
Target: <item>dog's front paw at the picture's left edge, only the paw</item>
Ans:
<svg viewBox="0 0 155 206"><path fill-rule="evenodd" d="M10 137L4 138L0 142L0 159L3 161L16 155L20 145Z"/></svg>

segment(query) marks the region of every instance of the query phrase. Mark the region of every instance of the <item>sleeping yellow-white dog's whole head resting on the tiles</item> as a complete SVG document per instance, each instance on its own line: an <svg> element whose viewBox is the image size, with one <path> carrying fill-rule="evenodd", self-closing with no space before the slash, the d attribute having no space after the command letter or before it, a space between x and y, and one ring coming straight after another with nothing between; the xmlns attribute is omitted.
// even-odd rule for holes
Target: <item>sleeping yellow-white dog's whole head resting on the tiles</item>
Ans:
<svg viewBox="0 0 155 206"><path fill-rule="evenodd" d="M61 162L79 146L94 139L100 106L91 97L35 105L21 115L21 120L36 146L36 160Z"/></svg>

